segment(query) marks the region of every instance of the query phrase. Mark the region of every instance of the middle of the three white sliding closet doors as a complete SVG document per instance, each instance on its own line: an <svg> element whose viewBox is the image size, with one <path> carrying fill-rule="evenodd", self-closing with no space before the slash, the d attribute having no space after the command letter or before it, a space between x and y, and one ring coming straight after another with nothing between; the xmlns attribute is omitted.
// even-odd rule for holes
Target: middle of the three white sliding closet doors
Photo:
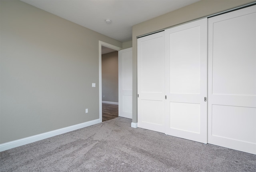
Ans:
<svg viewBox="0 0 256 172"><path fill-rule="evenodd" d="M207 19L165 30L166 134L207 143Z"/></svg>

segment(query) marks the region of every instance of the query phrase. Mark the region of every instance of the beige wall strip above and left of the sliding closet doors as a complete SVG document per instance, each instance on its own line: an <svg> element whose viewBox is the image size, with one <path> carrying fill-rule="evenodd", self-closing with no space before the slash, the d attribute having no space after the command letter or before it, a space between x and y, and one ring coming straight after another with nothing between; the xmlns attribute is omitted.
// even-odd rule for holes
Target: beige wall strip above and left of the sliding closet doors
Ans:
<svg viewBox="0 0 256 172"><path fill-rule="evenodd" d="M132 122L137 120L137 37L229 10L255 0L201 0L184 8L136 24L132 28Z"/></svg>

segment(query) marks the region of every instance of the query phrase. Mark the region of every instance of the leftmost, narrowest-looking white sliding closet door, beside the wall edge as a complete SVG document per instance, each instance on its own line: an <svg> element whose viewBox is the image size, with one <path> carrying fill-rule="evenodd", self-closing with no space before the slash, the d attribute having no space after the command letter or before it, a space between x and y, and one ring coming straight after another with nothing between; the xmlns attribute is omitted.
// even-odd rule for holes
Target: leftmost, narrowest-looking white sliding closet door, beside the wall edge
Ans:
<svg viewBox="0 0 256 172"><path fill-rule="evenodd" d="M137 41L138 127L164 132L164 32Z"/></svg>

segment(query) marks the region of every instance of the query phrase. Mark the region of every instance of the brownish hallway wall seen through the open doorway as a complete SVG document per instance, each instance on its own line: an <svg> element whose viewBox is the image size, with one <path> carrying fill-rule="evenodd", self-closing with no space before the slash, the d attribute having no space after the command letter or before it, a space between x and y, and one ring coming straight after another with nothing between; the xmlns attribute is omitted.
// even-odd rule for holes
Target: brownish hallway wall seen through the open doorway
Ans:
<svg viewBox="0 0 256 172"><path fill-rule="evenodd" d="M102 54L102 101L118 102L118 51Z"/></svg>

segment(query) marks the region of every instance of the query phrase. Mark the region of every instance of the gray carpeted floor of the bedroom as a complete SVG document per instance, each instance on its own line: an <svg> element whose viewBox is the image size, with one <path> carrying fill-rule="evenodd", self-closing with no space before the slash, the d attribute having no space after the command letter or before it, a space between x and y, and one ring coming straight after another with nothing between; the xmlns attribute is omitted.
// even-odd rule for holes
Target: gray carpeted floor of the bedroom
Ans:
<svg viewBox="0 0 256 172"><path fill-rule="evenodd" d="M0 152L1 172L256 172L256 155L131 128L118 117Z"/></svg>

